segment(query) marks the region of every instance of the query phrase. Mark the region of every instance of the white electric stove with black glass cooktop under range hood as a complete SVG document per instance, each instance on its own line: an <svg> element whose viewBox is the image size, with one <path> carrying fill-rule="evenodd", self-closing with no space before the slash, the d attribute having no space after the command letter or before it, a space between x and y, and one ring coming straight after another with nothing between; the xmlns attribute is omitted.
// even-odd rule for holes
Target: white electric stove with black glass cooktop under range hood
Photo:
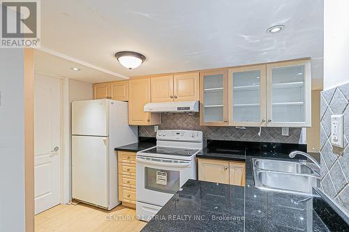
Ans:
<svg viewBox="0 0 349 232"><path fill-rule="evenodd" d="M158 130L156 146L136 156L136 215L149 222L188 179L196 179L201 131Z"/></svg>

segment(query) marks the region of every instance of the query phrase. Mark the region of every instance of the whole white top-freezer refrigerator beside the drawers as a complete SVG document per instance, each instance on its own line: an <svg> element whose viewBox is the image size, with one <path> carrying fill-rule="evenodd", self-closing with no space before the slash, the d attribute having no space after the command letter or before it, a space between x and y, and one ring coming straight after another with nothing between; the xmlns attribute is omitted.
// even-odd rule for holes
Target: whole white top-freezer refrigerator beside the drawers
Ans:
<svg viewBox="0 0 349 232"><path fill-rule="evenodd" d="M71 112L73 199L111 210L120 203L114 148L138 140L128 102L75 101Z"/></svg>

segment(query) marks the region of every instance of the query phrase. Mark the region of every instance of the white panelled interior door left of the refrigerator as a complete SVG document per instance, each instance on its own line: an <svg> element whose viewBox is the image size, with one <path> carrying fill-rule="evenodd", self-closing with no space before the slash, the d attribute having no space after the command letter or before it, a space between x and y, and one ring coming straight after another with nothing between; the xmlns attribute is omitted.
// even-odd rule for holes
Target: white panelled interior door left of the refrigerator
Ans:
<svg viewBox="0 0 349 232"><path fill-rule="evenodd" d="M34 77L35 213L61 202L61 79Z"/></svg>

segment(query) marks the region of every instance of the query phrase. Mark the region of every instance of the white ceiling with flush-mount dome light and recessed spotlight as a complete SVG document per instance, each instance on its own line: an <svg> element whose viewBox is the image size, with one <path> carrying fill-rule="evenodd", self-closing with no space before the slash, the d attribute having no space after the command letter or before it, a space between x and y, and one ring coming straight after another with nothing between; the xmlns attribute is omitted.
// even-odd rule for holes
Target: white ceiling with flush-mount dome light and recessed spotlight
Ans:
<svg viewBox="0 0 349 232"><path fill-rule="evenodd" d="M323 0L41 3L43 47L119 76L310 56L314 81L322 84ZM266 33L274 24L285 24L285 31ZM147 61L127 70L113 56L123 50L140 52Z"/></svg>

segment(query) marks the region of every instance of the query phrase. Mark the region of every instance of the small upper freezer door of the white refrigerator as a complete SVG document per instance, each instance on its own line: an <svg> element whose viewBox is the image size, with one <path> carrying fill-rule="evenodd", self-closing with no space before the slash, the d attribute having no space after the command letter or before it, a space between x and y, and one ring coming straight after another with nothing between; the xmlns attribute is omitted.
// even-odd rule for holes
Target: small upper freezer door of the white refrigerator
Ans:
<svg viewBox="0 0 349 232"><path fill-rule="evenodd" d="M72 102L71 114L72 134L108 136L107 100Z"/></svg>

